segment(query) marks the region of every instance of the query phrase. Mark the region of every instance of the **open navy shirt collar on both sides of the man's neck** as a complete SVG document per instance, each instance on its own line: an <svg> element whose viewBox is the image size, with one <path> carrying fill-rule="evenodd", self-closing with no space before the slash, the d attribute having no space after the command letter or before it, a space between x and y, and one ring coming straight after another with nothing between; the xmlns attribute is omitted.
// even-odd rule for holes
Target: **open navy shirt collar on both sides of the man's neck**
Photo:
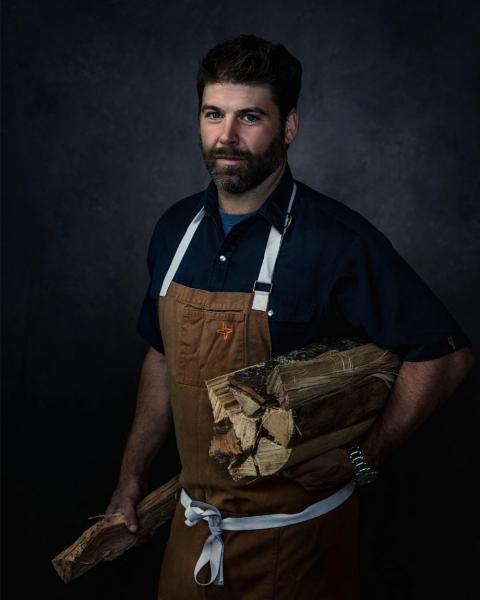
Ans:
<svg viewBox="0 0 480 600"><path fill-rule="evenodd" d="M257 214L262 215L280 232L283 230L292 188L293 177L290 166L287 163L277 187L257 211ZM207 215L215 216L218 214L218 190L213 180L204 191L204 209Z"/></svg>

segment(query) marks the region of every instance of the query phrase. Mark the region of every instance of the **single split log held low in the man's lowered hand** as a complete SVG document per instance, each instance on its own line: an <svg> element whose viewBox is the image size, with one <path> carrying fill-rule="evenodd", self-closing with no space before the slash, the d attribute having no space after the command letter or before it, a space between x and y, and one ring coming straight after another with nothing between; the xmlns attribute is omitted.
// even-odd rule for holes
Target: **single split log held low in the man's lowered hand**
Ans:
<svg viewBox="0 0 480 600"><path fill-rule="evenodd" d="M52 564L65 583L70 583L103 560L113 560L135 545L145 531L170 520L177 501L178 476L146 496L136 507L139 530L131 533L125 515L104 515L71 546L60 552Z"/></svg>

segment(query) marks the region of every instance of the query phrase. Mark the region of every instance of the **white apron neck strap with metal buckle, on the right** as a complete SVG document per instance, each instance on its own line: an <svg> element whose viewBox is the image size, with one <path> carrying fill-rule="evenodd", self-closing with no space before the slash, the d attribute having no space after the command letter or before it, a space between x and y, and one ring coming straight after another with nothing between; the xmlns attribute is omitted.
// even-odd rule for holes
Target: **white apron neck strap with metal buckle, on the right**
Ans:
<svg viewBox="0 0 480 600"><path fill-rule="evenodd" d="M297 184L293 183L292 195L290 196L290 202L288 203L287 214L285 216L285 222L283 224L283 231L280 233L275 227L271 227L270 235L268 236L267 245L265 247L265 254L263 255L263 262L260 268L258 279L253 284L253 303L252 308L254 310L266 311L268 307L268 299L270 292L272 291L272 280L273 272L275 270L275 263L277 262L278 253L282 245L283 236L285 231L290 225L290 213L292 211L293 201L297 192Z"/></svg>

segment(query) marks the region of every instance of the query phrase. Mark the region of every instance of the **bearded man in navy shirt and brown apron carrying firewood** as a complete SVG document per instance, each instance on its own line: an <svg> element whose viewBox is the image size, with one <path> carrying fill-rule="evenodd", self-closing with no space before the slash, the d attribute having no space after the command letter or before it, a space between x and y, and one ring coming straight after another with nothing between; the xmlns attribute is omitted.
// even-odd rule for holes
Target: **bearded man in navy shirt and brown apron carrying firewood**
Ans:
<svg viewBox="0 0 480 600"><path fill-rule="evenodd" d="M358 598L353 480L373 480L472 366L468 338L388 240L293 180L300 82L281 45L240 36L210 50L197 83L212 182L168 209L150 244L139 329L151 347L107 513L124 512L137 529L148 466L174 426L184 491L159 598ZM404 360L382 416L352 447L233 482L208 456L205 380L348 334ZM252 515L257 526L242 530Z"/></svg>

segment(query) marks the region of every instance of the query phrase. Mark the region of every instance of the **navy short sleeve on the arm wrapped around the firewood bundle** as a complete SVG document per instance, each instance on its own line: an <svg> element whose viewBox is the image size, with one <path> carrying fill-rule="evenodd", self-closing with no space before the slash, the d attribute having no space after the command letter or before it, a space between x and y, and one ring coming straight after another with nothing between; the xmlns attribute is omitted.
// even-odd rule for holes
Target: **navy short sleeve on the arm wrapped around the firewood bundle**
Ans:
<svg viewBox="0 0 480 600"><path fill-rule="evenodd" d="M355 235L341 258L336 308L356 330L406 361L438 358L471 341L380 232Z"/></svg>

